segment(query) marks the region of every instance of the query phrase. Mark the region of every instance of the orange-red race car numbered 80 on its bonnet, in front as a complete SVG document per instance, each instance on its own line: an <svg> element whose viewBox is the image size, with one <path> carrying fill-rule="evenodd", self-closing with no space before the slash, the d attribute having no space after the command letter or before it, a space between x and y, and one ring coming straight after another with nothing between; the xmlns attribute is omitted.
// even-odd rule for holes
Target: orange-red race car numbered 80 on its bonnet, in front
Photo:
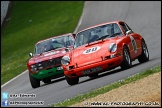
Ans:
<svg viewBox="0 0 162 108"><path fill-rule="evenodd" d="M121 66L127 69L132 61L149 60L144 38L122 21L99 24L76 34L74 49L61 60L69 85L79 77L96 77L99 72Z"/></svg>

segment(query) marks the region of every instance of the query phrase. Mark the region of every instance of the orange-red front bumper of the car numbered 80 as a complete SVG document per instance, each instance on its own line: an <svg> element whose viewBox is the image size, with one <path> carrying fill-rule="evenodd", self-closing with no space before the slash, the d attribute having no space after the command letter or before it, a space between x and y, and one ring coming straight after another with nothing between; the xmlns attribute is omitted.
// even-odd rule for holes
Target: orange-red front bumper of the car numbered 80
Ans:
<svg viewBox="0 0 162 108"><path fill-rule="evenodd" d="M87 75L82 74L82 72L87 70L87 69L92 69L92 68L101 66L102 70L106 70L106 69L110 69L110 68L121 65L122 61L123 61L123 56L118 56L118 57L115 57L115 58L103 60L103 61L100 61L100 62L97 62L97 63L93 63L93 64L89 64L89 65L86 65L86 66L78 67L78 68L71 69L71 70L68 70L68 71L65 70L64 74L66 76L70 77L70 78L87 76L89 74L92 74L92 73L89 73ZM101 71L98 71L98 72L101 72Z"/></svg>

